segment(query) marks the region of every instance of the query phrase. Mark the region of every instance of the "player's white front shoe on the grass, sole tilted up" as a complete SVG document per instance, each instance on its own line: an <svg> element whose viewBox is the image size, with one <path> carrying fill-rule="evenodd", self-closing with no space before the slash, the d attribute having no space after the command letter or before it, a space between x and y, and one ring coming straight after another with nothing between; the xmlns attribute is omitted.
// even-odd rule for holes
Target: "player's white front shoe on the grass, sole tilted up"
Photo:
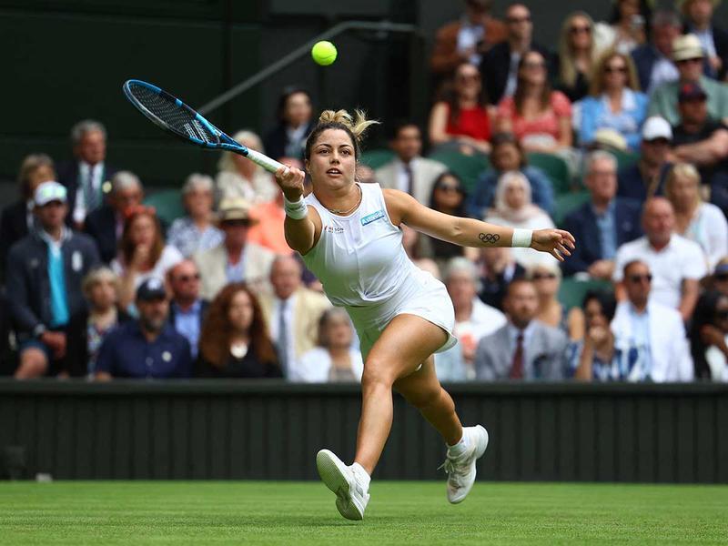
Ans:
<svg viewBox="0 0 728 546"><path fill-rule="evenodd" d="M347 520L363 520L369 503L369 483L365 473L354 465L347 466L329 450L316 455L316 468L321 481L336 493L336 507Z"/></svg>

